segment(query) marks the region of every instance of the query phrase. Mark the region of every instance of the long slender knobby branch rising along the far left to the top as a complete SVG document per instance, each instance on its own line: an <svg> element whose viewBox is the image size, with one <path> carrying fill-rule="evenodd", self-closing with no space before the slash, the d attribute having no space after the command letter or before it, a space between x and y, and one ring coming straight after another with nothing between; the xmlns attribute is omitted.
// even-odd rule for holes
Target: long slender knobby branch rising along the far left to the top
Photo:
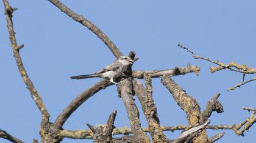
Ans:
<svg viewBox="0 0 256 143"><path fill-rule="evenodd" d="M30 91L30 95L32 99L34 100L35 104L37 105L38 109L41 111L42 115L42 121L41 121L41 126L48 124L49 123L49 113L46 110L46 107L43 104L43 101L38 94L36 88L34 87L33 82L30 80L29 75L27 75L27 71L24 68L23 61L20 56L20 49L24 45L17 45L16 38L15 38L15 32L13 29L13 21L12 21L12 13L14 10L17 8L12 8L7 0L3 0L4 2L4 8L5 8L5 16L7 20L7 28L10 34L10 42L12 45L12 50L13 50L13 55L16 60L17 67L20 71L20 75L23 78L23 81L27 85L27 89Z"/></svg>

